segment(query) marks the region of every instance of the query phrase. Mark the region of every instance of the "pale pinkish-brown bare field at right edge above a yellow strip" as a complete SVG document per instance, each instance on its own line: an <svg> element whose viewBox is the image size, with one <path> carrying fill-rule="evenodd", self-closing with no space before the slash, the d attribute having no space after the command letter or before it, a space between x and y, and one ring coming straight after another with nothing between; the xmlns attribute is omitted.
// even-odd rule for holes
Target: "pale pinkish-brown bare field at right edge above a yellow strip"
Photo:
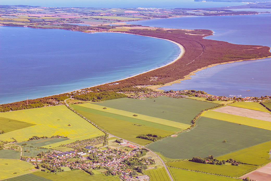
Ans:
<svg viewBox="0 0 271 181"><path fill-rule="evenodd" d="M233 106L225 106L218 109L214 109L213 111L271 122L271 114L262 111L255 111Z"/></svg>

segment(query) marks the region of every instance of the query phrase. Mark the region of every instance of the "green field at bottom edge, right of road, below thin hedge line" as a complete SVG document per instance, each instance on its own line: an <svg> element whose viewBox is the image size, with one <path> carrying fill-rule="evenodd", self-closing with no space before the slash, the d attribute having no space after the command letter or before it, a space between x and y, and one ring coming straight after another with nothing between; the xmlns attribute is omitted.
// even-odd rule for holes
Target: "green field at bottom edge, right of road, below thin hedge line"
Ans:
<svg viewBox="0 0 271 181"><path fill-rule="evenodd" d="M199 173L195 171L182 170L178 168L168 168L168 169L174 181L183 181L183 180L238 181L239 180L239 179L234 179L230 177Z"/></svg>

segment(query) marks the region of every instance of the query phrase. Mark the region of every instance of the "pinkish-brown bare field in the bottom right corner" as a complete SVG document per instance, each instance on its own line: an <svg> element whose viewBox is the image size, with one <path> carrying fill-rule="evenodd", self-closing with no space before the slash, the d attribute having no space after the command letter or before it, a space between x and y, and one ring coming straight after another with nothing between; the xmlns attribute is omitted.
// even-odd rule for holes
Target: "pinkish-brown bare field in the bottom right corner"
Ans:
<svg viewBox="0 0 271 181"><path fill-rule="evenodd" d="M242 179L245 179L246 177L249 177L250 180L270 181L271 180L271 163L244 175Z"/></svg>

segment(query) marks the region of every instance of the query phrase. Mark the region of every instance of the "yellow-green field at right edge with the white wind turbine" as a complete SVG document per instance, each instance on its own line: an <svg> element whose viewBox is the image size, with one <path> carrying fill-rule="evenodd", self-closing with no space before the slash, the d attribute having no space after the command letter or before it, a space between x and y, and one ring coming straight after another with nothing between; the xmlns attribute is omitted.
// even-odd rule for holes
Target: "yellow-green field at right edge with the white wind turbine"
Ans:
<svg viewBox="0 0 271 181"><path fill-rule="evenodd" d="M233 158L243 163L263 166L271 161L268 155L270 149L271 141L222 155L217 157L217 159L225 160L226 158Z"/></svg>

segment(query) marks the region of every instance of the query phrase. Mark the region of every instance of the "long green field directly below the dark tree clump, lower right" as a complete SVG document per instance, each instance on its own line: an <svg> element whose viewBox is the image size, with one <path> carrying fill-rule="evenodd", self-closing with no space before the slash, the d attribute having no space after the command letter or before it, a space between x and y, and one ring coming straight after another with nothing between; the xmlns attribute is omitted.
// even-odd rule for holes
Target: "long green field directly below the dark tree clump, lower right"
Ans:
<svg viewBox="0 0 271 181"><path fill-rule="evenodd" d="M212 165L212 164L203 164L203 163L195 163L192 161L176 161L176 162L167 162L167 166L176 167L176 168L185 168L188 170L198 170L201 172L212 173L212 174L221 174L224 176L230 177L240 177L259 166L254 165Z"/></svg>

